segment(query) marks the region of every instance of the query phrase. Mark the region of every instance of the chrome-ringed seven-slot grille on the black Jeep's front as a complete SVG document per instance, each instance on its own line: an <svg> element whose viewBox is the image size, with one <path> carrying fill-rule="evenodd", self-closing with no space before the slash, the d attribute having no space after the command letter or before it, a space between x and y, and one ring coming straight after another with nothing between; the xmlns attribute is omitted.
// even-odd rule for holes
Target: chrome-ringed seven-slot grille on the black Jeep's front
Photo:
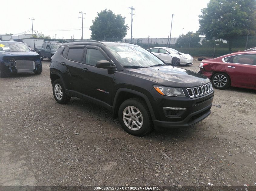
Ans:
<svg viewBox="0 0 256 191"><path fill-rule="evenodd" d="M194 88L187 88L187 91L188 91L189 97L199 97L212 92L213 87L211 85L211 82L209 82L205 85L197 86Z"/></svg>

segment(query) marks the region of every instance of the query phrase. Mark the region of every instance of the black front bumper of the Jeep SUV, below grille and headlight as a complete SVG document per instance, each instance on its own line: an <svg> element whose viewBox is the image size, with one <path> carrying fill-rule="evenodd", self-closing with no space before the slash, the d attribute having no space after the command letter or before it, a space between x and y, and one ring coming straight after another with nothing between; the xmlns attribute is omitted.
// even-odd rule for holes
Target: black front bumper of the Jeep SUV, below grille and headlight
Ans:
<svg viewBox="0 0 256 191"><path fill-rule="evenodd" d="M202 121L211 113L214 91L200 97L169 97L151 91L155 101L151 102L154 114L152 120L158 127L189 127ZM185 93L186 94L186 93ZM164 107L186 108L186 110L165 110Z"/></svg>

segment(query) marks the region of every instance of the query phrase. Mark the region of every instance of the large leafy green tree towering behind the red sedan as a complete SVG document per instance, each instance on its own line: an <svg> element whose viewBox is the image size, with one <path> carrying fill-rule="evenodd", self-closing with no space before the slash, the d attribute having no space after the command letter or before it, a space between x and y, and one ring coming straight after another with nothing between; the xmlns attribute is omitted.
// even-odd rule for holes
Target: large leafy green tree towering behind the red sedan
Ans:
<svg viewBox="0 0 256 191"><path fill-rule="evenodd" d="M207 39L224 39L232 48L232 39L256 30L255 0L210 0L199 15L199 30Z"/></svg>

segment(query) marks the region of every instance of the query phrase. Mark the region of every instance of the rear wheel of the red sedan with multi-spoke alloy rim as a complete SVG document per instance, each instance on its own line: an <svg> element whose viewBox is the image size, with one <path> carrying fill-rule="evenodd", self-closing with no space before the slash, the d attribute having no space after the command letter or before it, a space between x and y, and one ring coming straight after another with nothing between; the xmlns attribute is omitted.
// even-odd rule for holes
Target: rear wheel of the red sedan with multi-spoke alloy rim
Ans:
<svg viewBox="0 0 256 191"><path fill-rule="evenodd" d="M230 86L230 78L227 74L218 72L211 78L212 86L216 89L224 90Z"/></svg>

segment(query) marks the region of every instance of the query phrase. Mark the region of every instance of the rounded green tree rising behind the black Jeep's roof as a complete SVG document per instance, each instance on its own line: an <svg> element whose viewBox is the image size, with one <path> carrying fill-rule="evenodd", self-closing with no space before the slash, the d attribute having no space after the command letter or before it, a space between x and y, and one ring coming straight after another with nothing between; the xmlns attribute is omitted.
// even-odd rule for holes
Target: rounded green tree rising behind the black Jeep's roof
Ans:
<svg viewBox="0 0 256 191"><path fill-rule="evenodd" d="M111 10L105 9L98 12L98 16L92 20L91 39L103 40L106 38L122 39L127 34L127 24L125 24L125 17L120 14L115 15Z"/></svg>

